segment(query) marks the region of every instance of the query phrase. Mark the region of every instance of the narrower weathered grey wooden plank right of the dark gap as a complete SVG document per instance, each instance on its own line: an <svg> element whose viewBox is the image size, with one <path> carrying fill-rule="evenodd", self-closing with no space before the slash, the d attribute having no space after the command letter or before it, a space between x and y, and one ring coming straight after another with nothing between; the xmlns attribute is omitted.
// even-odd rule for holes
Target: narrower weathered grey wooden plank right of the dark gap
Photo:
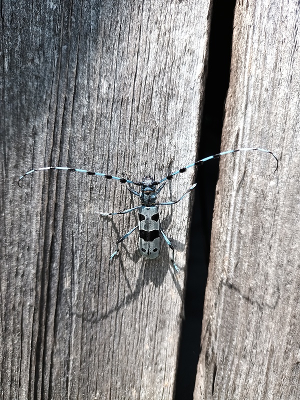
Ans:
<svg viewBox="0 0 300 400"><path fill-rule="evenodd" d="M236 4L195 400L300 398L299 16Z"/></svg>

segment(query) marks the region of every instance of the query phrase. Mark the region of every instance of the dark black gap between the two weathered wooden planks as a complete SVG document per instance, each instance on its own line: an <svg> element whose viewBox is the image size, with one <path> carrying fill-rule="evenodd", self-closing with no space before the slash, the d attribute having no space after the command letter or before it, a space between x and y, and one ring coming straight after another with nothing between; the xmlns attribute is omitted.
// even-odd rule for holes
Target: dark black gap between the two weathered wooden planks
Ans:
<svg viewBox="0 0 300 400"><path fill-rule="evenodd" d="M220 150L224 103L229 86L235 0L213 0L209 32L207 78L197 159ZM198 168L193 205L184 315L176 368L175 400L191 400L200 354L204 292L218 161Z"/></svg>

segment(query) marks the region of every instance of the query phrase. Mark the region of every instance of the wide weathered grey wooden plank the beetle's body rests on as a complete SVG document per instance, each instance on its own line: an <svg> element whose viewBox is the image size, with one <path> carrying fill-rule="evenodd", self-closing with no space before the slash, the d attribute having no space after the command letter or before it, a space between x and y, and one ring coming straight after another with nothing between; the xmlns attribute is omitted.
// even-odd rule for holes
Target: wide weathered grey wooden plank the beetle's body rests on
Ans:
<svg viewBox="0 0 300 400"><path fill-rule="evenodd" d="M1 2L0 398L170 399L190 199L162 209L176 248L146 261L114 181L194 160L209 1ZM175 199L194 171L167 184Z"/></svg>

